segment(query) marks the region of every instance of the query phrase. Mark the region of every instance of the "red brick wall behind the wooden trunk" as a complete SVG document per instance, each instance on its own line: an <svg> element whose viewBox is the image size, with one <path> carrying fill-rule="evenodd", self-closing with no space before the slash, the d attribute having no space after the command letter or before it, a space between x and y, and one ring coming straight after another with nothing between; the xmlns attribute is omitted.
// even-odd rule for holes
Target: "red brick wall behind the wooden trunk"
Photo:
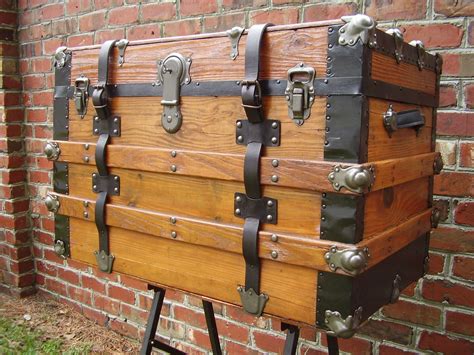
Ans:
<svg viewBox="0 0 474 355"><path fill-rule="evenodd" d="M109 38L194 34L267 21L324 20L364 12L384 26L404 28L406 39L421 39L429 50L443 54L438 149L446 165L436 178L435 191L449 213L433 233L430 274L404 292L398 303L378 312L357 337L341 341L341 348L355 354L474 352L472 1L19 0L18 61L14 3L0 0L2 289L28 292L35 270L40 292L133 337L143 330L150 306L150 293L143 283L64 261L52 251L53 220L41 202L50 189L51 164L42 149L51 137L51 55L58 46L101 43ZM25 196L30 198L29 206ZM176 292L167 296L160 334L188 351L209 349L199 300ZM216 305L216 311L222 344L229 353L281 351L284 338L278 321L254 319L234 307ZM325 345L319 332L302 330L301 353L324 352Z"/></svg>

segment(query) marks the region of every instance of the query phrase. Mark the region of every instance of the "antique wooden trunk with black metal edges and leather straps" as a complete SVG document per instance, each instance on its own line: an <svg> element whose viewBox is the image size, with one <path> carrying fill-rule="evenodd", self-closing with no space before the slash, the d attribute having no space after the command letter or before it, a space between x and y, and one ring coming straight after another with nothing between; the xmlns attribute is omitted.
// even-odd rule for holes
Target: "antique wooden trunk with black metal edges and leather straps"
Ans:
<svg viewBox="0 0 474 355"><path fill-rule="evenodd" d="M426 272L441 59L363 15L58 49L56 251L351 336Z"/></svg>

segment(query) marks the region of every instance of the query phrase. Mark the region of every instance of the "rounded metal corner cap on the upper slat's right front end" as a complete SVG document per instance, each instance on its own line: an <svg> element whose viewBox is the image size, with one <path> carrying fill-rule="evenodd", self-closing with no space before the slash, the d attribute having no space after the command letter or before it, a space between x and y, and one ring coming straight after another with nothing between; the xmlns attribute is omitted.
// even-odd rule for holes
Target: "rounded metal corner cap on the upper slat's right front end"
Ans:
<svg viewBox="0 0 474 355"><path fill-rule="evenodd" d="M328 179L336 191L344 187L352 192L366 193L370 191L375 181L374 168L362 166L343 168L341 165L336 165L329 173Z"/></svg>

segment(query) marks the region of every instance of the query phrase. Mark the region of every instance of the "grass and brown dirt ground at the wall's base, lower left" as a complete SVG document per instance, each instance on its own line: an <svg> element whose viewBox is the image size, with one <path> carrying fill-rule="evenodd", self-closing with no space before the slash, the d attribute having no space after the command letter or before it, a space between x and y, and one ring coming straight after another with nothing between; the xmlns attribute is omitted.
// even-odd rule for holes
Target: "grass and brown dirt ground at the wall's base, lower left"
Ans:
<svg viewBox="0 0 474 355"><path fill-rule="evenodd" d="M0 353L137 353L137 341L86 319L45 295L24 299L0 293Z"/></svg>

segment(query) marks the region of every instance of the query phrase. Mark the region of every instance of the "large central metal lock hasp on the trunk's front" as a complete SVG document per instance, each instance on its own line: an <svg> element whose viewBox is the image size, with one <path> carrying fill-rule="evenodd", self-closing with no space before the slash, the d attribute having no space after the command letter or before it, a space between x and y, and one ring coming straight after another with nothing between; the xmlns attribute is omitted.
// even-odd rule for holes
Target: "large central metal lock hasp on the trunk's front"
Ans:
<svg viewBox="0 0 474 355"><path fill-rule="evenodd" d="M185 58L179 53L172 53L164 60L158 61L158 81L163 85L163 117L161 123L168 133L176 133L183 124L180 110L181 85L191 82L189 70L191 58Z"/></svg>

